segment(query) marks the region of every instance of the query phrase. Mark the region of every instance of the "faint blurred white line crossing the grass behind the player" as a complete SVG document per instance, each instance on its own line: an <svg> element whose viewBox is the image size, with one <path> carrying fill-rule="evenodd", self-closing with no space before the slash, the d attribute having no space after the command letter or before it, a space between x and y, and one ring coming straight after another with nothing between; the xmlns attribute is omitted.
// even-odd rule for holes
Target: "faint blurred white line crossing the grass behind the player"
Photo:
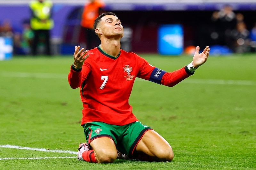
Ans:
<svg viewBox="0 0 256 170"><path fill-rule="evenodd" d="M28 73L28 72L0 72L1 77L19 77L19 78L60 78L68 79L67 74L55 73ZM136 81L144 81L136 78ZM187 78L182 83L189 84L216 84L216 85L256 85L256 81L250 80L222 80L222 79L192 79Z"/></svg>

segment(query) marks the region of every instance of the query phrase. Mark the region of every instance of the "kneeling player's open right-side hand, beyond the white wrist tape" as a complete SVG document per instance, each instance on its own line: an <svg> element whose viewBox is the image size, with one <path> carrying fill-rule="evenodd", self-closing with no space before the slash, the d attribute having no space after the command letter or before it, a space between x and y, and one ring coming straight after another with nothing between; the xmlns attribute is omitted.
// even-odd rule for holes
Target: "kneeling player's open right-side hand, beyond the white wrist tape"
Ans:
<svg viewBox="0 0 256 170"><path fill-rule="evenodd" d="M209 56L210 48L206 46L204 51L199 54L199 46L196 46L196 52L193 57L192 64L197 69L200 65L204 64Z"/></svg>

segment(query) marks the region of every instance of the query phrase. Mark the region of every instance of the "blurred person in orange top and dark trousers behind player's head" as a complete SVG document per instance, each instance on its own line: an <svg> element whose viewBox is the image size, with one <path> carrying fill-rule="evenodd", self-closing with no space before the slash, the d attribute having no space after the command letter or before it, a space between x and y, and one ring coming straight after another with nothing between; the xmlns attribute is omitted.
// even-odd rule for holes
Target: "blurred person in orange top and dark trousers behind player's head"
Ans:
<svg viewBox="0 0 256 170"><path fill-rule="evenodd" d="M105 4L101 0L88 0L84 5L81 26L82 31L85 34L86 49L88 50L100 45L100 39L93 29L93 23L94 20L103 12L104 7Z"/></svg>

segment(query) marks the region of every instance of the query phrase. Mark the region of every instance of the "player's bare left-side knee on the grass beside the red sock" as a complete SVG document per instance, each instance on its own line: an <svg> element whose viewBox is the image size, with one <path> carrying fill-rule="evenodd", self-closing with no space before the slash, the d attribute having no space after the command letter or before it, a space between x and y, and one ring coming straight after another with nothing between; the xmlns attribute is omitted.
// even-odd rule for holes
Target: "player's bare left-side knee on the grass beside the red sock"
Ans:
<svg viewBox="0 0 256 170"><path fill-rule="evenodd" d="M97 161L102 164L112 163L116 160L116 156L116 152L101 151L101 153L97 153Z"/></svg>

